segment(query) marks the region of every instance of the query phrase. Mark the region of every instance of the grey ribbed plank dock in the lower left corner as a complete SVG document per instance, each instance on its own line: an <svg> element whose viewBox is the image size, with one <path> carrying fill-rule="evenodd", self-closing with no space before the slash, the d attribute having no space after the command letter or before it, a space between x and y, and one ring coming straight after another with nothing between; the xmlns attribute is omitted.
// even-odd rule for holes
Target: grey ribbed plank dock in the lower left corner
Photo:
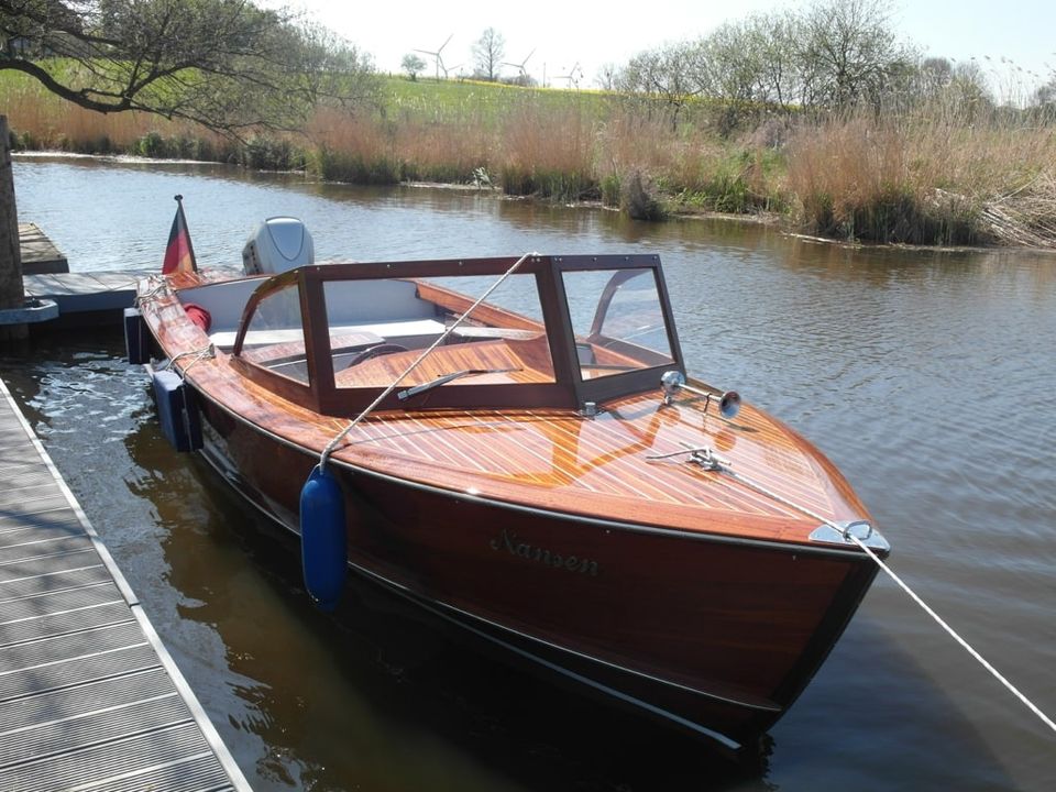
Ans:
<svg viewBox="0 0 1056 792"><path fill-rule="evenodd" d="M0 789L246 791L0 382Z"/></svg>

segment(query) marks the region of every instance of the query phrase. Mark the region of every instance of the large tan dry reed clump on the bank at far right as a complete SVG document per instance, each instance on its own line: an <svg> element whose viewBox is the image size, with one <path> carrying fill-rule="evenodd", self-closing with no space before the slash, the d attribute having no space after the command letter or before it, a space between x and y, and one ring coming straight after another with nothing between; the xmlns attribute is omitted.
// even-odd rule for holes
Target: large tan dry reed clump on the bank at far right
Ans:
<svg viewBox="0 0 1056 792"><path fill-rule="evenodd" d="M1045 211L1054 176L1052 128L999 112L969 122L942 106L803 125L788 152L801 222L878 242L1010 241L1026 239L1027 227L1044 233L1028 207Z"/></svg>

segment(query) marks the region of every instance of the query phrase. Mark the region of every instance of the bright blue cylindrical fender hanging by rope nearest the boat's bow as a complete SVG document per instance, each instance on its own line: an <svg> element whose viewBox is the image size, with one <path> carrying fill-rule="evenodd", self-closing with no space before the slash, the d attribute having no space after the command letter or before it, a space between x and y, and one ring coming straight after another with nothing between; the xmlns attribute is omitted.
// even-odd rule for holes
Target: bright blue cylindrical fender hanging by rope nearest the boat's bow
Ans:
<svg viewBox="0 0 1056 792"><path fill-rule="evenodd" d="M333 610L348 569L344 498L334 475L319 465L300 491L300 561L312 604Z"/></svg>

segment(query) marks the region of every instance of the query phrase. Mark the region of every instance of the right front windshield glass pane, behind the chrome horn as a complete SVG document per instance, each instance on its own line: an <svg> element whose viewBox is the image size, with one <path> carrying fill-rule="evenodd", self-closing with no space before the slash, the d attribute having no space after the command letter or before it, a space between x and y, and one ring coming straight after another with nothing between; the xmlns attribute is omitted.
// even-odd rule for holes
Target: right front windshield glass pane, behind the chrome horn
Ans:
<svg viewBox="0 0 1056 792"><path fill-rule="evenodd" d="M562 277L584 380L674 362L652 270L588 270Z"/></svg>

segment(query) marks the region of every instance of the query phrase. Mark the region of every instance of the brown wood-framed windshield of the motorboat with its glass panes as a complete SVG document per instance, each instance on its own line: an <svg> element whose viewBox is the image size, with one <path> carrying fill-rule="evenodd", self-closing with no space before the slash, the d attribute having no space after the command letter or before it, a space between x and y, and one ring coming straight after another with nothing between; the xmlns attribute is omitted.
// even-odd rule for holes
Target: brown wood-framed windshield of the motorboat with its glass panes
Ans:
<svg viewBox="0 0 1056 792"><path fill-rule="evenodd" d="M243 373L327 415L584 406L684 373L656 256L327 264L264 280L233 344ZM422 351L450 333L414 371Z"/></svg>

